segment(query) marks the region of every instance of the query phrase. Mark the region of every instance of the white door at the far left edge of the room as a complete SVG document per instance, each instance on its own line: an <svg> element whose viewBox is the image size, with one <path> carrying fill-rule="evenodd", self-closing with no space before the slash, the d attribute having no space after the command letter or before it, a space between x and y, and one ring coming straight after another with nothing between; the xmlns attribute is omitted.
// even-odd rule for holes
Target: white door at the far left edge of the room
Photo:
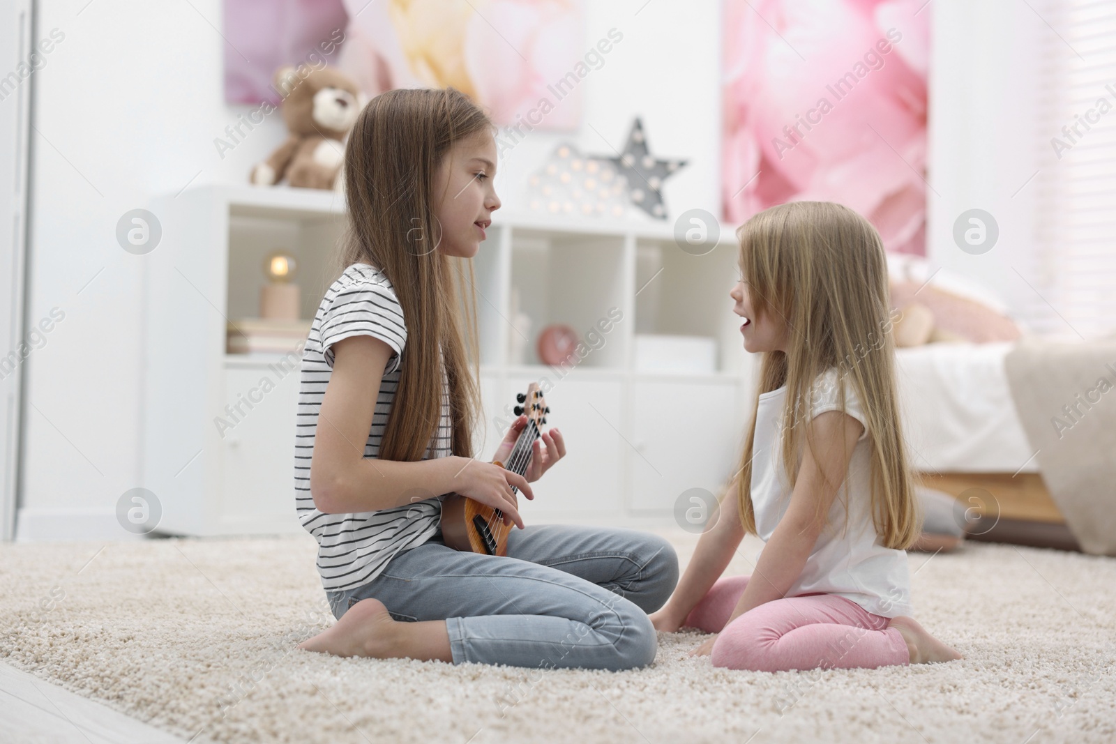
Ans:
<svg viewBox="0 0 1116 744"><path fill-rule="evenodd" d="M7 31L2 29L8 29ZM16 531L19 489L31 0L0 2L0 540Z"/></svg>

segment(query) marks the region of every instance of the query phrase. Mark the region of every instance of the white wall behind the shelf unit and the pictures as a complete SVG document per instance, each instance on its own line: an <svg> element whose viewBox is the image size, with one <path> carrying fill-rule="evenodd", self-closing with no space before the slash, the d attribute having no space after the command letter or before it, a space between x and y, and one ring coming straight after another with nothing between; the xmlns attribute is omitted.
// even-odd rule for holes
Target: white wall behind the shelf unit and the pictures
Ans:
<svg viewBox="0 0 1116 744"><path fill-rule="evenodd" d="M653 153L690 161L666 182L671 213L720 213L719 3L586 6L586 48L613 27L624 39L581 84L581 131L535 132L501 164L506 206L521 204L523 178L557 142L607 153L594 128L619 148L641 115ZM1028 276L1036 184L1018 190L1038 167L1031 124L1038 93L1029 80L1036 39L1050 30L1009 0L932 3L923 12L934 15L931 261L990 282L1009 305L1027 307L1032 290L1016 270ZM213 28L220 26L219 0L40 2L40 35L58 28L66 38L35 74L40 134L32 135L28 321L55 307L66 316L25 367L20 539L119 538L116 501L144 485L144 259L116 243L117 220L187 183L243 181L283 136L275 115L223 161L218 156L213 138L251 108L223 102L224 41ZM952 240L954 219L970 207L992 212L1000 224L999 244L983 255L964 253Z"/></svg>

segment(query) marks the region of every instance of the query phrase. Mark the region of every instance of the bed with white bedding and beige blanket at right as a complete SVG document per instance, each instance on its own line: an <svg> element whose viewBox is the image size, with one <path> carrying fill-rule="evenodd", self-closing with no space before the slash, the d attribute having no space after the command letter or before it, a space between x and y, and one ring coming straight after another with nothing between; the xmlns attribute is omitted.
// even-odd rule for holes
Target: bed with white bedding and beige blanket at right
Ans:
<svg viewBox="0 0 1116 744"><path fill-rule="evenodd" d="M896 253L887 269L904 433L953 523L1116 555L1116 336L1039 338L968 276Z"/></svg>

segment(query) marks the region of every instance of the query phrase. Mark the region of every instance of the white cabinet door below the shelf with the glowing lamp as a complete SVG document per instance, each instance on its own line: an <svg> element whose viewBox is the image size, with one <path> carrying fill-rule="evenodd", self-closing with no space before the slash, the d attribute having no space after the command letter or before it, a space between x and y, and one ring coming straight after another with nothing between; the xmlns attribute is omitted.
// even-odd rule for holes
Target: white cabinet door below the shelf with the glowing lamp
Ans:
<svg viewBox="0 0 1116 744"><path fill-rule="evenodd" d="M294 369L280 377L276 367L266 365L225 369L225 399L230 406L240 403L243 415L232 422L219 412L233 427L225 428L221 439L224 493L217 532L302 530L295 514L298 376ZM264 380L275 386L266 393ZM251 409L242 403L246 398Z"/></svg>

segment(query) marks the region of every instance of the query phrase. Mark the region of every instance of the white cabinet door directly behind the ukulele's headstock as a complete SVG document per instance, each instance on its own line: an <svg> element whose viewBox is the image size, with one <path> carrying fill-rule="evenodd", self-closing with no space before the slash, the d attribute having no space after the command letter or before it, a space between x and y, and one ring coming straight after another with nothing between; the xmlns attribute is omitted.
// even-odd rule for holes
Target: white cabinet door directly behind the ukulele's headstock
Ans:
<svg viewBox="0 0 1116 744"><path fill-rule="evenodd" d="M540 521L615 519L624 508L623 465L628 448L619 435L624 386L618 376L602 379L593 373L579 371L571 370L561 379L550 369L540 377L509 375L506 395L493 406L502 410L504 403L514 404L516 394L525 393L530 383L540 381L542 376L552 384L546 393L550 406L547 427L557 426L561 431L567 454L532 484L533 502L520 499L527 522L532 515ZM491 419L489 426L493 426ZM491 456L491 452L484 454L485 458Z"/></svg>

